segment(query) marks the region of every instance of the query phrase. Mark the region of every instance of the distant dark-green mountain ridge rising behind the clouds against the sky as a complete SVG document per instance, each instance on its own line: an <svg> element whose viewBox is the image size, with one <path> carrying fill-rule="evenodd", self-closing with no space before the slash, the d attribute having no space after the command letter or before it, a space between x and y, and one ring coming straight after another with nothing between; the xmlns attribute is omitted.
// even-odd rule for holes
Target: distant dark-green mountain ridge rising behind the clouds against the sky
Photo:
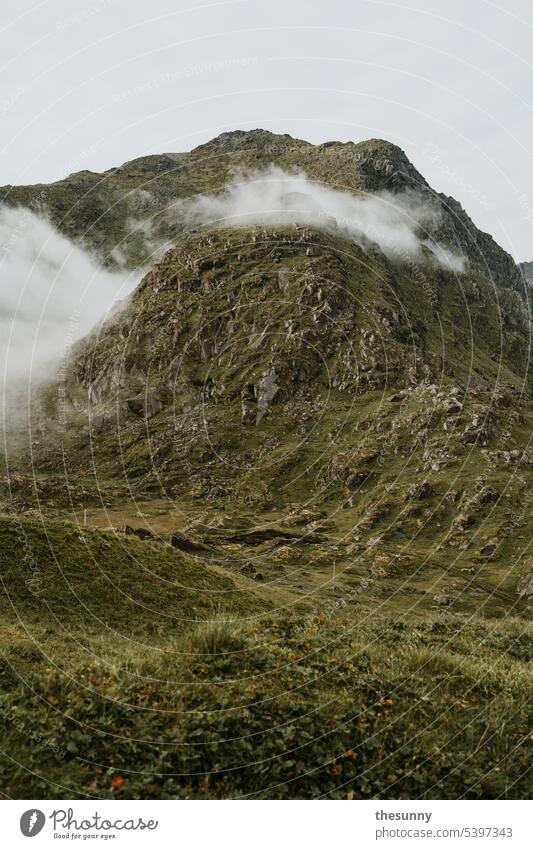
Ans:
<svg viewBox="0 0 533 849"><path fill-rule="evenodd" d="M323 185L357 194L412 190L436 213L434 235L473 268L505 287L523 288L512 258L476 228L454 198L436 193L396 145L382 139L313 145L266 130L222 133L190 153L143 156L98 174L80 171L51 185L4 186L0 203L46 214L65 235L113 266L144 266L179 234L184 199L216 192L267 165L301 169ZM431 228L433 230L433 228Z"/></svg>

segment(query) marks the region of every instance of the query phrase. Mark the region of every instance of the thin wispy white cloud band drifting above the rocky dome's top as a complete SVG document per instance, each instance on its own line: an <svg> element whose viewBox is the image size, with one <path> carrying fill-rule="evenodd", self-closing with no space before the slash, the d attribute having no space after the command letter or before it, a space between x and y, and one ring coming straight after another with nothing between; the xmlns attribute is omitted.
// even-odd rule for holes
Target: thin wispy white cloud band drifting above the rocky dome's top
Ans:
<svg viewBox="0 0 533 849"><path fill-rule="evenodd" d="M396 262L420 259L426 249L449 270L462 271L465 264L463 257L431 238L440 211L414 192L358 196L276 166L237 178L219 194L186 202L183 214L192 225L292 223L334 229L363 248L377 245Z"/></svg>

